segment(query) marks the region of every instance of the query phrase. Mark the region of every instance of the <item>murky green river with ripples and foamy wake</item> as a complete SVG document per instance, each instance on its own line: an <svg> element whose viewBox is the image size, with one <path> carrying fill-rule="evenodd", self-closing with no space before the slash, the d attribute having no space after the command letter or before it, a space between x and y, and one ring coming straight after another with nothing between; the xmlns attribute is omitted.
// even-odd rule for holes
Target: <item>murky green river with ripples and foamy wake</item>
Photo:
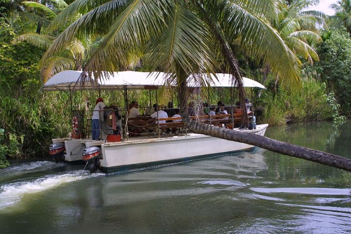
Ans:
<svg viewBox="0 0 351 234"><path fill-rule="evenodd" d="M351 123L266 136L351 157ZM89 174L52 162L0 170L1 233L351 233L351 173L265 149Z"/></svg>

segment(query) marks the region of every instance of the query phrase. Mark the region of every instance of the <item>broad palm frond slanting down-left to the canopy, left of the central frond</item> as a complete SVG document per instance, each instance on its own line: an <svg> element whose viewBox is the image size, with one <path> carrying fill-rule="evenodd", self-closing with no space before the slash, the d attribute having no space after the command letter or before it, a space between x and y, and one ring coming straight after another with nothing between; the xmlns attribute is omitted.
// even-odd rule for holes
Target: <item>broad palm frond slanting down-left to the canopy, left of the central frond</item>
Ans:
<svg viewBox="0 0 351 234"><path fill-rule="evenodd" d="M126 64L132 51L143 48L165 26L163 12L170 9L167 0L133 0L118 15L86 65L86 70L96 71L117 69Z"/></svg>

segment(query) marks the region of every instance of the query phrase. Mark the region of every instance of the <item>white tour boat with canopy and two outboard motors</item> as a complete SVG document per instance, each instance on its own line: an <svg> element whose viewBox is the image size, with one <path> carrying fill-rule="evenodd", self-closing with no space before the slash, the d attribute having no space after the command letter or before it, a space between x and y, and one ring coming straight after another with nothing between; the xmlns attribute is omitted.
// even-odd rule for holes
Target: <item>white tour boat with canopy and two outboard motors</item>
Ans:
<svg viewBox="0 0 351 234"><path fill-rule="evenodd" d="M79 88L78 83L81 71L62 71L53 76L44 86L44 91L70 90ZM222 77L223 75L223 77ZM216 82L222 82L216 86L230 87L231 82L227 74L221 74ZM167 74L162 72L134 72L124 71L110 74L108 80L98 80L95 89L99 90L127 90L158 87L165 84ZM246 81L246 83L245 83ZM84 88L92 89L90 83L83 84ZM263 85L244 79L244 86L260 87ZM153 89L153 88L151 88ZM78 125L79 118L74 116L73 128ZM121 124L119 123L121 126ZM268 124L257 125L255 129L234 128L233 131L245 131L253 134L264 135ZM123 129L124 132L128 130ZM186 129L185 129L186 130ZM97 169L103 172L115 172L120 170L133 170L147 168L156 165L184 162L198 158L212 157L229 152L250 151L255 147L252 145L228 141L212 136L183 132L175 135L166 135L155 138L146 133L138 137L128 137L122 134L118 140L109 142L108 135L103 134L104 140L92 140L91 138L57 138L52 139L50 155L56 161L64 160L66 163L86 163L90 171Z"/></svg>

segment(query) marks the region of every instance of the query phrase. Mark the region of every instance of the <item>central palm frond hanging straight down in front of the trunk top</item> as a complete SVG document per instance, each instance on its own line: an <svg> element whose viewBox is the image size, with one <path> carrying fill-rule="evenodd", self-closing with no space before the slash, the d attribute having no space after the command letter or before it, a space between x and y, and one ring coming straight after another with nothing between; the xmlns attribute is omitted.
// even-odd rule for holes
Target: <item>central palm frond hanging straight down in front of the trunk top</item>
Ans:
<svg viewBox="0 0 351 234"><path fill-rule="evenodd" d="M146 47L144 59L153 69L160 66L170 73L175 73L177 66L189 74L206 72L215 64L215 57L208 47L209 34L192 11L176 4L169 14L167 27Z"/></svg>

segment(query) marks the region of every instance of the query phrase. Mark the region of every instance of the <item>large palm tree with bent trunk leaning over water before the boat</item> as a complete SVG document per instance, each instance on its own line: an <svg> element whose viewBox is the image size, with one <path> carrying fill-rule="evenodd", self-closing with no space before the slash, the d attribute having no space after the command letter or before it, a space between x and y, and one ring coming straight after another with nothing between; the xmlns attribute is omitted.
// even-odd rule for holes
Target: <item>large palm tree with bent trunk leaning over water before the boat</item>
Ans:
<svg viewBox="0 0 351 234"><path fill-rule="evenodd" d="M323 152L189 120L186 91L188 75L212 73L220 70L219 64L224 63L226 72L231 73L238 86L242 87L239 67L230 46L237 40L240 41L240 49L255 54L269 64L272 72L281 77L282 81L298 84L299 60L269 21L276 17L278 2L76 0L52 21L49 28L58 29L67 21L77 19L78 15L81 17L70 24L51 44L41 60L41 65L52 56L58 55L77 38L103 36L83 67L88 74L101 77L104 73L118 71L119 64L124 64L130 54L141 51L142 61L151 70L173 74L178 83L181 115L190 130L331 164L331 158L323 157ZM82 79L90 79L89 77L83 76ZM240 88L241 97L245 95L243 90ZM344 160L336 155L332 157L334 161ZM351 161L341 166L338 163L337 167L351 170Z"/></svg>

